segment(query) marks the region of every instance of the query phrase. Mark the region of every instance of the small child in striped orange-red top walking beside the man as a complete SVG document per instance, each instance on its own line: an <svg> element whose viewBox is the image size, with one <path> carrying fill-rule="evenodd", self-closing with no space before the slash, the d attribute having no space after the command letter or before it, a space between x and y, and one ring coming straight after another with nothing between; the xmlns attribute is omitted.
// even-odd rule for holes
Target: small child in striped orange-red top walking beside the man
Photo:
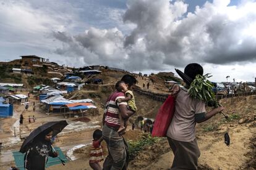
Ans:
<svg viewBox="0 0 256 170"><path fill-rule="evenodd" d="M93 170L101 170L100 162L104 160L101 142L103 140L102 131L96 129L93 132L93 143L90 151L89 164Z"/></svg>

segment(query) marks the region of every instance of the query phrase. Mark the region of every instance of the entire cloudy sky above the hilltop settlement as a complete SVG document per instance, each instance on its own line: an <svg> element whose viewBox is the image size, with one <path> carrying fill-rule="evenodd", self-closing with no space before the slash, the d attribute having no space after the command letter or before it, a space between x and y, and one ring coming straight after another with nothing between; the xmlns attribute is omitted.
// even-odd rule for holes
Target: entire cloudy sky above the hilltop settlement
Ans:
<svg viewBox="0 0 256 170"><path fill-rule="evenodd" d="M203 65L213 81L254 81L256 1L0 0L0 59L157 73Z"/></svg>

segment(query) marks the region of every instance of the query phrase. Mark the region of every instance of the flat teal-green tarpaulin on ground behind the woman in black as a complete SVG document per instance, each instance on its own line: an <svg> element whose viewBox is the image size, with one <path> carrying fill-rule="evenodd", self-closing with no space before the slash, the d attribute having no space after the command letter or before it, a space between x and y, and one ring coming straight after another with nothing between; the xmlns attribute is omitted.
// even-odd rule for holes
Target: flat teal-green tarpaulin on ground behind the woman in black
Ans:
<svg viewBox="0 0 256 170"><path fill-rule="evenodd" d="M61 158L65 162L67 162L67 158L66 158L66 156L64 156L61 149L59 147L54 147L54 149L56 150L56 152L59 153L59 158ZM15 151L15 152L12 152L12 155L14 156L14 161L15 161L16 167L19 168L20 170L25 170L25 168L24 168L25 153L20 153L20 152ZM59 160L59 158L58 157L56 157L56 158L49 157L48 162L46 163L46 168L48 168L49 166L53 166L54 164L61 164L61 161Z"/></svg>

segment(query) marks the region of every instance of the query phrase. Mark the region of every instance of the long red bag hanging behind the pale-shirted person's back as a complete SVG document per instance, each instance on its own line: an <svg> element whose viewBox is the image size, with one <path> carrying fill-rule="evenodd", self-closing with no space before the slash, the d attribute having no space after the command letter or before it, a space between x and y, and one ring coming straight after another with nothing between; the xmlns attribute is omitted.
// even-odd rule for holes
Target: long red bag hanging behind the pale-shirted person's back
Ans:
<svg viewBox="0 0 256 170"><path fill-rule="evenodd" d="M152 131L153 137L165 137L168 130L171 119L173 118L175 111L175 99L173 95L169 95L168 98L161 105L155 118L155 123Z"/></svg>

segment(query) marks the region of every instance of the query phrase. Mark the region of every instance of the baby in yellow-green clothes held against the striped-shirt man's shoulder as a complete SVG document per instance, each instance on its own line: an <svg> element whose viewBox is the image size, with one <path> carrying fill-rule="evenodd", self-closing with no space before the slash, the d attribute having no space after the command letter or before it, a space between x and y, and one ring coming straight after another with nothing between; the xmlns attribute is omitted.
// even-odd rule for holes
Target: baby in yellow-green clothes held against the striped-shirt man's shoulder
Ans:
<svg viewBox="0 0 256 170"><path fill-rule="evenodd" d="M137 107L135 105L135 99L134 99L134 94L132 92L132 87L128 89L126 83L124 81L117 81L116 83L116 90L119 92L123 92L126 97L124 99L117 99L117 103L121 102L127 102L127 108L129 110L132 110L134 112L137 111ZM121 132L122 130L126 129L128 125L128 119L123 119L122 116L119 114L119 119L120 119L120 127L117 132Z"/></svg>

